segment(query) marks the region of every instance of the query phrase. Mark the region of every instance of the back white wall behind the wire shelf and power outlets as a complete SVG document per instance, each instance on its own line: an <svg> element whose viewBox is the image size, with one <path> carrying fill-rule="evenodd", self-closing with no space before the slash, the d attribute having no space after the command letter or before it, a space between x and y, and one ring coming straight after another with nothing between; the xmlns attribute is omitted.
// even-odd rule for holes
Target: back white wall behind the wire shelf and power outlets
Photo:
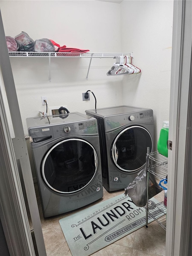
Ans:
<svg viewBox="0 0 192 256"><path fill-rule="evenodd" d="M5 35L15 37L25 31L35 39L49 38L67 47L88 49L92 53L121 52L120 5L100 1L1 1ZM114 22L115 20L115 22ZM51 80L48 58L12 57L24 132L26 118L46 111L48 106L67 105L70 112L85 113L95 108L95 99L82 101L82 92L92 90L97 107L122 104L122 77L107 77L112 59L52 58Z"/></svg>

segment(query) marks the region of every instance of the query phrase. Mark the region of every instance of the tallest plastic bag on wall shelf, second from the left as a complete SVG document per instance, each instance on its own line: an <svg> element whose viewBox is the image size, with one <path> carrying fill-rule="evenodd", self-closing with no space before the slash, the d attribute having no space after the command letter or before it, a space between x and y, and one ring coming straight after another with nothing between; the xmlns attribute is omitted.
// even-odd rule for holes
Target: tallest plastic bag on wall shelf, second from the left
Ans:
<svg viewBox="0 0 192 256"><path fill-rule="evenodd" d="M15 40L19 45L19 51L21 52L32 52L34 40L26 32L21 32L15 36Z"/></svg>

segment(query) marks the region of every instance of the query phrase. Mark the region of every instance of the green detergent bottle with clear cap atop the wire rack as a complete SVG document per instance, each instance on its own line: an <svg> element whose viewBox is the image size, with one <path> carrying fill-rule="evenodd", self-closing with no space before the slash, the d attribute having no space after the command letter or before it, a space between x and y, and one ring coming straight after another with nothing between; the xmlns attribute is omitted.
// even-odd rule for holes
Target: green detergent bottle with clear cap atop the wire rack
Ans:
<svg viewBox="0 0 192 256"><path fill-rule="evenodd" d="M161 155L168 156L167 140L169 135L169 121L163 121L163 127L161 128L157 149Z"/></svg>

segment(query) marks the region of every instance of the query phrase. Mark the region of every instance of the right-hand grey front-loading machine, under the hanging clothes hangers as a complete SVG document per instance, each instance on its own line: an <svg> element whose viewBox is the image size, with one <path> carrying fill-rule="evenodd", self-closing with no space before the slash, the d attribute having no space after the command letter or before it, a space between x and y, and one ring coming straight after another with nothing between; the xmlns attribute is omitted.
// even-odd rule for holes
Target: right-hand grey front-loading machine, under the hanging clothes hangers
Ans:
<svg viewBox="0 0 192 256"><path fill-rule="evenodd" d="M153 110L116 106L85 110L98 122L103 186L107 191L126 188L153 150Z"/></svg>

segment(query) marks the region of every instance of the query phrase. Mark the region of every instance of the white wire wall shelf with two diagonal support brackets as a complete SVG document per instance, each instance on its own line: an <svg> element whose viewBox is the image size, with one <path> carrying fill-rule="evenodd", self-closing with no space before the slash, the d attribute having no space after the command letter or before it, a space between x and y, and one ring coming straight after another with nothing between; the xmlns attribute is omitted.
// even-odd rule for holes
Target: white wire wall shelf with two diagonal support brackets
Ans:
<svg viewBox="0 0 192 256"><path fill-rule="evenodd" d="M51 82L51 58L52 57L75 57L75 58L90 58L86 80L88 80L88 73L91 66L92 58L115 58L115 56L130 55L133 53L58 53L58 52L8 52L10 57L48 57L49 58L49 82Z"/></svg>

